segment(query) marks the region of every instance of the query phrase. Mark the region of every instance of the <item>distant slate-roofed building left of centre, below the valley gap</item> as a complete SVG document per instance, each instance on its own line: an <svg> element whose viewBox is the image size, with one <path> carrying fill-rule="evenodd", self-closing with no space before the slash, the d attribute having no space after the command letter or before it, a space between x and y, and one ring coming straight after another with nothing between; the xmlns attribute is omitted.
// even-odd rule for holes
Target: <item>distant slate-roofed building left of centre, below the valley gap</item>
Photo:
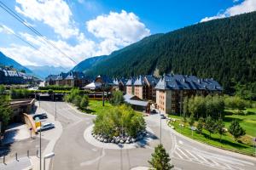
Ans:
<svg viewBox="0 0 256 170"><path fill-rule="evenodd" d="M78 71L61 72L59 75L49 75L45 78L47 85L70 86L82 88L91 82L90 77Z"/></svg>

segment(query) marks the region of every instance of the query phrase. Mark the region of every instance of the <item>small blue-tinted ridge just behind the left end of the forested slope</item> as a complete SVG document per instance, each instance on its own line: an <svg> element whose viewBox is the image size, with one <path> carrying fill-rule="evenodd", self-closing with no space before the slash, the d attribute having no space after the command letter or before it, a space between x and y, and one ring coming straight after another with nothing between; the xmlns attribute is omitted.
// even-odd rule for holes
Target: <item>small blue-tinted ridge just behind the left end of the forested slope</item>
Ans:
<svg viewBox="0 0 256 170"><path fill-rule="evenodd" d="M105 59L106 55L92 57L89 59L84 59L81 61L78 65L74 66L72 71L88 71L90 68L92 68L94 65L96 65L98 62Z"/></svg>

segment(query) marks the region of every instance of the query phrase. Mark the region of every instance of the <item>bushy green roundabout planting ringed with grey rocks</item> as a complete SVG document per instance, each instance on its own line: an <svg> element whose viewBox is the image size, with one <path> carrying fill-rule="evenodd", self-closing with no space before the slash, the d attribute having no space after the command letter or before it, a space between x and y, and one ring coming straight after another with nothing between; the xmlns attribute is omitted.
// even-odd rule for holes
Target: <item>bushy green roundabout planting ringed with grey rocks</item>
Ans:
<svg viewBox="0 0 256 170"><path fill-rule="evenodd" d="M99 112L92 132L93 137L99 141L115 144L130 144L143 139L146 134L143 116L127 105Z"/></svg>

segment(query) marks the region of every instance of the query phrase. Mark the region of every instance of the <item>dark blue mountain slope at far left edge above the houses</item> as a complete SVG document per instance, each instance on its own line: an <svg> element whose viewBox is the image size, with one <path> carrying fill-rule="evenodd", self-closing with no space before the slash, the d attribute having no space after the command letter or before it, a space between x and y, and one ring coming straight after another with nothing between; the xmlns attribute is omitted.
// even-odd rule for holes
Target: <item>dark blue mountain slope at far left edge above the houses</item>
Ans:
<svg viewBox="0 0 256 170"><path fill-rule="evenodd" d="M28 68L26 68L23 65L20 65L17 61L15 61L15 59L11 59L11 58L7 57L1 51L0 51L0 65L13 66L18 71L24 70L24 71L26 71L27 74L33 75L33 72L31 70L29 70Z"/></svg>

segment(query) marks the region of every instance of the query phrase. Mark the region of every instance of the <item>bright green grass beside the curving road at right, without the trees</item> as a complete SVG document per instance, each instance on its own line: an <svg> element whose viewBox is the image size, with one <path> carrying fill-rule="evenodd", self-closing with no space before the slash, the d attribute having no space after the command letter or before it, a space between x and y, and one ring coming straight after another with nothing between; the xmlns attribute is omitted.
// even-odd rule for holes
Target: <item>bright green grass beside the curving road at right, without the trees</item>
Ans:
<svg viewBox="0 0 256 170"><path fill-rule="evenodd" d="M211 144L218 148L241 152L247 155L253 155L255 154L253 148L253 137L256 137L256 108L248 110L252 112L251 115L228 115L224 117L224 124L226 128L230 126L232 120L237 119L240 122L241 127L246 130L247 134L239 139L240 142L236 142L230 133L225 133L222 136L222 141L220 141L218 133L214 133L210 137L209 133L205 129L203 130L202 134L196 133L194 131L192 136L192 132L189 129L188 123L185 127L179 127L179 123L181 120L180 116L170 116L177 119L176 122L171 122L170 125L175 127L178 133L182 133L183 135L191 139L195 139L206 144ZM196 124L197 122L195 122L195 125Z"/></svg>

